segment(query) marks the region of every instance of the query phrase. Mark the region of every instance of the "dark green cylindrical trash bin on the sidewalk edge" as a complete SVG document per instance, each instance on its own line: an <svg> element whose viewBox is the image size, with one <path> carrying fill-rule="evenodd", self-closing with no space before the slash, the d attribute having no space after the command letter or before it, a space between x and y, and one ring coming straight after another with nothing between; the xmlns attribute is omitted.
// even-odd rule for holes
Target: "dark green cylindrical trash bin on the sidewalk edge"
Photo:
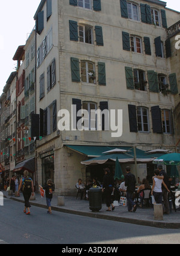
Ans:
<svg viewBox="0 0 180 256"><path fill-rule="evenodd" d="M101 187L91 187L88 190L89 209L98 212L102 208L102 189Z"/></svg>

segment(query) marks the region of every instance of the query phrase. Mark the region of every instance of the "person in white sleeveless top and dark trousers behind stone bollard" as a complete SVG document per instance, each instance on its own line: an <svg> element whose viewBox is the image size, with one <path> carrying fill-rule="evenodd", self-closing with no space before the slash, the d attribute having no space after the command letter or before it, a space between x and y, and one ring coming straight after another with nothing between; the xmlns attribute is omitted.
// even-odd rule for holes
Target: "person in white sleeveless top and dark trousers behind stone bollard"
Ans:
<svg viewBox="0 0 180 256"><path fill-rule="evenodd" d="M164 183L162 176L160 176L159 169L155 169L154 174L155 174L155 176L153 177L151 195L154 195L155 203L162 204L163 203L162 186L164 187L164 189L167 190L167 192L170 192L170 191L169 191L168 187L166 186L166 184ZM161 178L158 178L158 176L160 176Z"/></svg>

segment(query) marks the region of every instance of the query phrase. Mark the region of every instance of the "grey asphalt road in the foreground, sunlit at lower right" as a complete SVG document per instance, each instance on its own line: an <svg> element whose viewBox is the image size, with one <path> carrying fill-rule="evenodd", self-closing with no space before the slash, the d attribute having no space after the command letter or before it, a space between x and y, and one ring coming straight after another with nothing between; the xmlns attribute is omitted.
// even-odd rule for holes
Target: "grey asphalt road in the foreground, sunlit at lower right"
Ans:
<svg viewBox="0 0 180 256"><path fill-rule="evenodd" d="M4 200L0 206L0 244L116 245L180 243L180 230L125 224L103 219L53 212L31 207L23 213L23 204ZM63 246L61 246L62 248Z"/></svg>

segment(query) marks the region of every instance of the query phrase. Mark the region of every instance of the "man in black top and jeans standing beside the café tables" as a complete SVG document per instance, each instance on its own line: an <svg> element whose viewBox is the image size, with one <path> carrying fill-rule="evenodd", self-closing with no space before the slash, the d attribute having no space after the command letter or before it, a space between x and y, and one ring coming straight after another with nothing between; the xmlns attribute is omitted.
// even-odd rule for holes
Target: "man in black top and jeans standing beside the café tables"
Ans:
<svg viewBox="0 0 180 256"><path fill-rule="evenodd" d="M134 203L133 201L133 194L136 189L136 178L134 174L131 174L131 168L130 166L127 166L126 168L127 175L125 175L125 186L127 187L127 205L128 205L128 212L136 212L137 209L137 203Z"/></svg>

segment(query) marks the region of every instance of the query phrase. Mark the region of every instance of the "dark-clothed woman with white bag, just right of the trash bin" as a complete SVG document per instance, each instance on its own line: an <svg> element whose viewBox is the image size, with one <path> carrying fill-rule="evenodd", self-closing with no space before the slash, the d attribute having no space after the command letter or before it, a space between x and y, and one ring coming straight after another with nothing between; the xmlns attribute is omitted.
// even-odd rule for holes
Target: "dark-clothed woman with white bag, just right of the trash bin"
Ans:
<svg viewBox="0 0 180 256"><path fill-rule="evenodd" d="M115 181L110 174L110 169L104 169L104 177L103 177L103 192L106 198L106 206L107 212L111 212L110 205L112 206L112 211L115 210L115 206L113 205L113 198L111 197L113 189L114 189Z"/></svg>

